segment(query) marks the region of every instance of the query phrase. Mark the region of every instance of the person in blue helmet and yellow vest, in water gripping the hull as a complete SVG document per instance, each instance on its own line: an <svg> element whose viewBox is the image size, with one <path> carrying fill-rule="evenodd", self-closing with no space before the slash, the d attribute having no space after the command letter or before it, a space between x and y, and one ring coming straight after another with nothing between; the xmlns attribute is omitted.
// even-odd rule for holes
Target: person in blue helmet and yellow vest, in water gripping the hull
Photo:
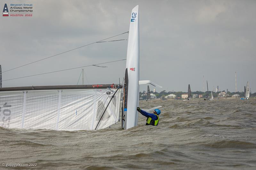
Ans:
<svg viewBox="0 0 256 170"><path fill-rule="evenodd" d="M146 125L153 125L157 126L159 122L159 116L161 111L159 109L155 109L153 113L145 112L144 110L141 110L140 107L137 107L137 111L141 113L141 115L146 116L147 123Z"/></svg>

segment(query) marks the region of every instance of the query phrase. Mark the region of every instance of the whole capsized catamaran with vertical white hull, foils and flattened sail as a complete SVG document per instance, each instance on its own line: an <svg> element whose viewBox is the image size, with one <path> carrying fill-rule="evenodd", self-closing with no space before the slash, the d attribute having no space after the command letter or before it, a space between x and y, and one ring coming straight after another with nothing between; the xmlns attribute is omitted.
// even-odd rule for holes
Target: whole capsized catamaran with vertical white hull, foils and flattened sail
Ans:
<svg viewBox="0 0 256 170"><path fill-rule="evenodd" d="M139 81L138 5L132 10L129 32L122 115L124 129L138 124L139 85L161 87L149 80ZM53 130L103 129L119 119L121 88L114 84L0 88L0 126Z"/></svg>

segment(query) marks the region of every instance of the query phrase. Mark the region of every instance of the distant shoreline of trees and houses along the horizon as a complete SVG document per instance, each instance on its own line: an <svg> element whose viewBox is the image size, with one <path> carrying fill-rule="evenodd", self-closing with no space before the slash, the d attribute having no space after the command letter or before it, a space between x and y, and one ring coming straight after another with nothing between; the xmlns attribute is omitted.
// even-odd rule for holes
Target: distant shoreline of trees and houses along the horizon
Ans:
<svg viewBox="0 0 256 170"><path fill-rule="evenodd" d="M222 92L225 92L224 90ZM146 99L147 98L147 95L142 95L142 94L145 94L146 92L143 91L143 92L140 92L140 98L143 98L143 99ZM151 91L150 93L153 93L156 95L157 98L164 98L165 96L168 96L169 94L175 94L177 97L181 97L182 94L184 93L188 93L188 92L166 92L165 90L162 91L162 92L153 92ZM213 94L213 97L216 98L218 97L218 94L220 92L212 92ZM211 91L208 91L208 92L199 92L199 91L196 91L196 92L191 92L191 94L202 94L203 97L207 97L207 94L208 96L210 97L211 96ZM231 97L232 95L234 94L239 94L240 97L244 97L244 92L228 92L228 95L229 97ZM255 93L251 93L250 94L250 97L256 97L256 92Z"/></svg>

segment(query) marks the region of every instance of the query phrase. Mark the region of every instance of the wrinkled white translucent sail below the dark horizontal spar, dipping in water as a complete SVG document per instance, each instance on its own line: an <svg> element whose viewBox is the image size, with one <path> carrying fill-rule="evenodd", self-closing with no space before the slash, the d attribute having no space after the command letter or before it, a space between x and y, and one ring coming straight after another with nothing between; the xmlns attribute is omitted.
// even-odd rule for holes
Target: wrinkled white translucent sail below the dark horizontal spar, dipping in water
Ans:
<svg viewBox="0 0 256 170"><path fill-rule="evenodd" d="M103 129L119 119L120 91L108 107L113 94L109 89L2 91L0 126L20 129L91 130L95 129L107 107L97 128Z"/></svg>

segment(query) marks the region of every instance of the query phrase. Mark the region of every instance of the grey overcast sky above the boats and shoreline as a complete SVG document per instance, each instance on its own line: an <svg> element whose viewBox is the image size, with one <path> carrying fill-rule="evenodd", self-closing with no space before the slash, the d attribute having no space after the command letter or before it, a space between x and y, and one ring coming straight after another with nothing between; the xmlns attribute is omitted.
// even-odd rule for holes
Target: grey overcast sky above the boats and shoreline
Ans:
<svg viewBox="0 0 256 170"><path fill-rule="evenodd" d="M8 1L33 4L33 17L0 16L2 71L129 31L140 10L140 80L157 92L256 91L256 1ZM128 34L109 39L128 39ZM126 58L128 41L95 43L3 73L3 80ZM85 67L85 84L122 80L125 61ZM3 87L76 85L81 69L3 81ZM79 84L82 82L80 81ZM141 85L140 91L147 85ZM150 86L153 90L153 86Z"/></svg>

